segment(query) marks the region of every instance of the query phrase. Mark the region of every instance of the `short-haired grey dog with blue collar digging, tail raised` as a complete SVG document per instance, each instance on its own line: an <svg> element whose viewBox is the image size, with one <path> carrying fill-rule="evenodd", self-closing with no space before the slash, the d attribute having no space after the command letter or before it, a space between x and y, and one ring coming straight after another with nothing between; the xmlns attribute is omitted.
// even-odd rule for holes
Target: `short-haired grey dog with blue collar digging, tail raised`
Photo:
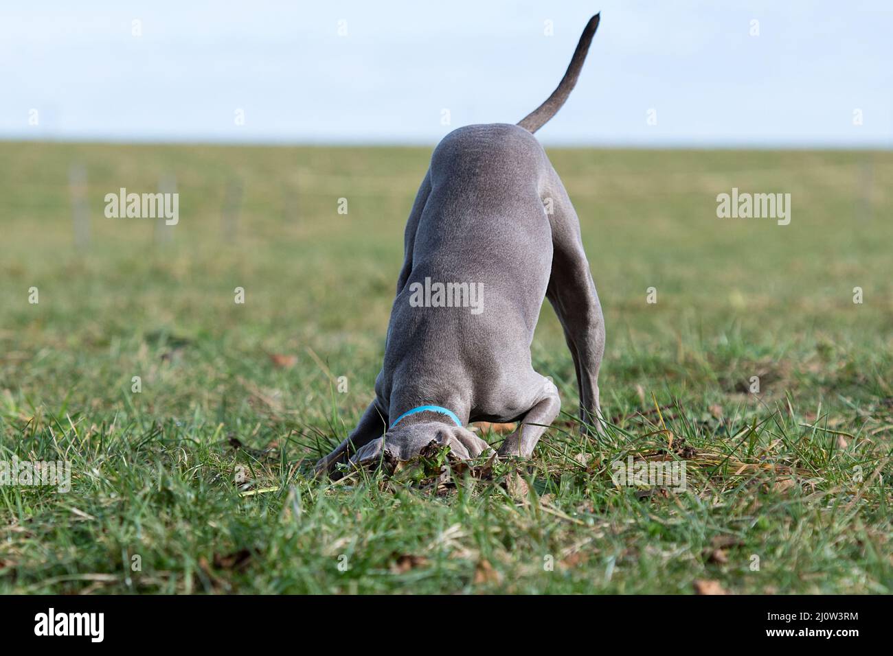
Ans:
<svg viewBox="0 0 893 656"><path fill-rule="evenodd" d="M602 310L580 221L533 137L570 95L597 27L598 15L561 83L520 123L455 129L435 148L406 222L375 399L318 471L407 461L432 442L463 460L492 453L465 428L472 421L520 422L497 453L530 457L561 408L530 363L544 298L571 350L582 426L601 429Z"/></svg>

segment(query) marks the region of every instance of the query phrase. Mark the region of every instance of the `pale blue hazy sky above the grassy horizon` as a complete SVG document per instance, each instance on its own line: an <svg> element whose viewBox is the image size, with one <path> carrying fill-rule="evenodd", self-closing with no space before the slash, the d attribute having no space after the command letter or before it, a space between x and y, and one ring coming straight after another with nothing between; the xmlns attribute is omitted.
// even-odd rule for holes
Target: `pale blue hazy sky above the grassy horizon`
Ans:
<svg viewBox="0 0 893 656"><path fill-rule="evenodd" d="M893 147L889 0L0 0L0 138L433 144L536 108L595 12L544 143Z"/></svg>

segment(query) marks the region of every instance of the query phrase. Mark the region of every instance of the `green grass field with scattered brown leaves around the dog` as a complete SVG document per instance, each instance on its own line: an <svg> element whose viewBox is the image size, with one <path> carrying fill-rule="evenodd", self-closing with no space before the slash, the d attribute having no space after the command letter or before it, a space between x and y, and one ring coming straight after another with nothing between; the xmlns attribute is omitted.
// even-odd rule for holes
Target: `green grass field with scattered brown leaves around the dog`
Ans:
<svg viewBox="0 0 893 656"><path fill-rule="evenodd" d="M569 414L529 468L438 489L307 475L371 400L430 149L0 144L0 461L71 463L67 493L0 486L0 592L893 591L893 154L549 154L613 426L577 436L547 305ZM171 174L177 226L104 217ZM718 219L732 187L790 224ZM686 491L613 484L660 453Z"/></svg>

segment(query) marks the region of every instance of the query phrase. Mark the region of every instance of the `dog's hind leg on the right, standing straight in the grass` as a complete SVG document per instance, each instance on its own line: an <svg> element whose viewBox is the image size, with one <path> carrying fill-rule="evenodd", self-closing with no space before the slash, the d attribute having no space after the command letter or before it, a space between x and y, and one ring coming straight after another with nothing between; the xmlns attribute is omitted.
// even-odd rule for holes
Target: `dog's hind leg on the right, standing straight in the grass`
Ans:
<svg viewBox="0 0 893 656"><path fill-rule="evenodd" d="M598 369L605 353L605 320L583 251L580 220L558 174L555 170L550 173L542 193L552 226L553 248L552 272L546 295L564 328L564 338L577 370L580 420L583 427L591 426L601 432ZM586 428L583 429L586 432Z"/></svg>

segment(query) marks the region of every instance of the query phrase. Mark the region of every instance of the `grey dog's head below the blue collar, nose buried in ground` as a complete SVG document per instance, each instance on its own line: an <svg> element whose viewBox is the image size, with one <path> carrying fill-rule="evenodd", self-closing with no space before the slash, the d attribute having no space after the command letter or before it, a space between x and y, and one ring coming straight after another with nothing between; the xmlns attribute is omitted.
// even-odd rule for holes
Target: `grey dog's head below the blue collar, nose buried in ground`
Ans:
<svg viewBox="0 0 893 656"><path fill-rule="evenodd" d="M384 436L358 449L350 461L354 464L409 461L428 446L449 446L450 453L463 461L492 452L489 444L467 428L442 421L420 421L391 428Z"/></svg>

